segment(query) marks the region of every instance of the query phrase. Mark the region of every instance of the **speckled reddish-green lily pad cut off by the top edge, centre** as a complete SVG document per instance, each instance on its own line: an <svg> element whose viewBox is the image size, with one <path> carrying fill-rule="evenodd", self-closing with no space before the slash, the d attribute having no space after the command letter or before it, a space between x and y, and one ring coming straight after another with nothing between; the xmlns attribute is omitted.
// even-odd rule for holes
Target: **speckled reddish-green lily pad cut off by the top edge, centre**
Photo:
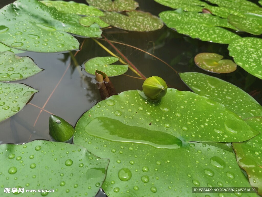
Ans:
<svg viewBox="0 0 262 197"><path fill-rule="evenodd" d="M90 6L94 6L103 11L133 11L138 7L138 2L133 0L86 0Z"/></svg>

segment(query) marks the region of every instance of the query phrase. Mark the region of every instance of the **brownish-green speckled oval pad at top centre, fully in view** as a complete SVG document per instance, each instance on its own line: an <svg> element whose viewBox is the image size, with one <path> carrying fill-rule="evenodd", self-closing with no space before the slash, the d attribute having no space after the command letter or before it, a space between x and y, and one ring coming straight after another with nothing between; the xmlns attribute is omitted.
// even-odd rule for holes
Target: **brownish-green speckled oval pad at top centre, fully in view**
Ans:
<svg viewBox="0 0 262 197"><path fill-rule="evenodd" d="M101 19L114 27L136 32L150 32L163 27L162 21L148 12L131 11L126 14L105 12Z"/></svg>

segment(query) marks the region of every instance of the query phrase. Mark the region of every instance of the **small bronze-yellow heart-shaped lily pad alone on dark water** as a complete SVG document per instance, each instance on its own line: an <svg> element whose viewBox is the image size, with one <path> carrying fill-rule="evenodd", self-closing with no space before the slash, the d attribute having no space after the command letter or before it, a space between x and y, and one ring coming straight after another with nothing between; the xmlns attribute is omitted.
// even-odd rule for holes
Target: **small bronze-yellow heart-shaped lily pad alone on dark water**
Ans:
<svg viewBox="0 0 262 197"><path fill-rule="evenodd" d="M199 53L195 56L195 64L208 72L229 73L237 69L232 60L222 60L223 56L216 53Z"/></svg>

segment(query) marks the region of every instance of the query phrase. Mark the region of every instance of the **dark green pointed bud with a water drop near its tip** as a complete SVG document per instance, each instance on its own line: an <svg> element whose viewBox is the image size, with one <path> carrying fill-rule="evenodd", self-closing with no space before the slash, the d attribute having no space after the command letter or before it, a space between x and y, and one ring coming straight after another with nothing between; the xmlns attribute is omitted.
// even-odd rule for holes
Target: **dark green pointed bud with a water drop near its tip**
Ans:
<svg viewBox="0 0 262 197"><path fill-rule="evenodd" d="M63 118L55 115L49 117L49 134L58 142L69 140L74 134L74 128Z"/></svg>

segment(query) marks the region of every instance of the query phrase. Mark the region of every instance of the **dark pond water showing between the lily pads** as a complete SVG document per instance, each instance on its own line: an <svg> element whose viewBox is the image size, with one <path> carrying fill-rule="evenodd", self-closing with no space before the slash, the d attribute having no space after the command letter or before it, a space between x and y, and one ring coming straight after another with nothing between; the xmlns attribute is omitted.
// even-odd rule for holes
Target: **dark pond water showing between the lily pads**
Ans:
<svg viewBox="0 0 262 197"><path fill-rule="evenodd" d="M0 8L12 2L1 1ZM75 2L85 3L84 0ZM170 9L152 0L137 0L137 2L140 5L140 10L154 15ZM239 34L243 35L244 33ZM148 33L108 28L103 31L103 36L114 41L112 42L113 46L121 51L123 56L119 55L105 39L98 39L100 43L122 59L128 59L144 76L162 77L169 87L189 90L179 78L178 72L202 72L240 87L262 104L262 80L250 75L239 66L236 71L229 74L214 74L201 70L195 65L194 56L202 52L218 53L223 55L225 59L232 59L228 55L228 45L226 44L192 39L165 26L160 30ZM31 86L39 92L34 95L23 110L0 122L0 143L21 144L35 139L52 140L48 134L50 114L62 117L75 126L79 117L101 100L99 91L95 89L94 76L83 71L83 64L90 58L110 56L110 54L91 38L77 38L83 46L75 57L76 51L19 54L19 56L29 56L44 70L28 79L19 81L19 83ZM130 69L125 74L137 77ZM130 76L121 75L110 78L117 93L142 89L144 80ZM99 195L102 196L102 192Z"/></svg>

